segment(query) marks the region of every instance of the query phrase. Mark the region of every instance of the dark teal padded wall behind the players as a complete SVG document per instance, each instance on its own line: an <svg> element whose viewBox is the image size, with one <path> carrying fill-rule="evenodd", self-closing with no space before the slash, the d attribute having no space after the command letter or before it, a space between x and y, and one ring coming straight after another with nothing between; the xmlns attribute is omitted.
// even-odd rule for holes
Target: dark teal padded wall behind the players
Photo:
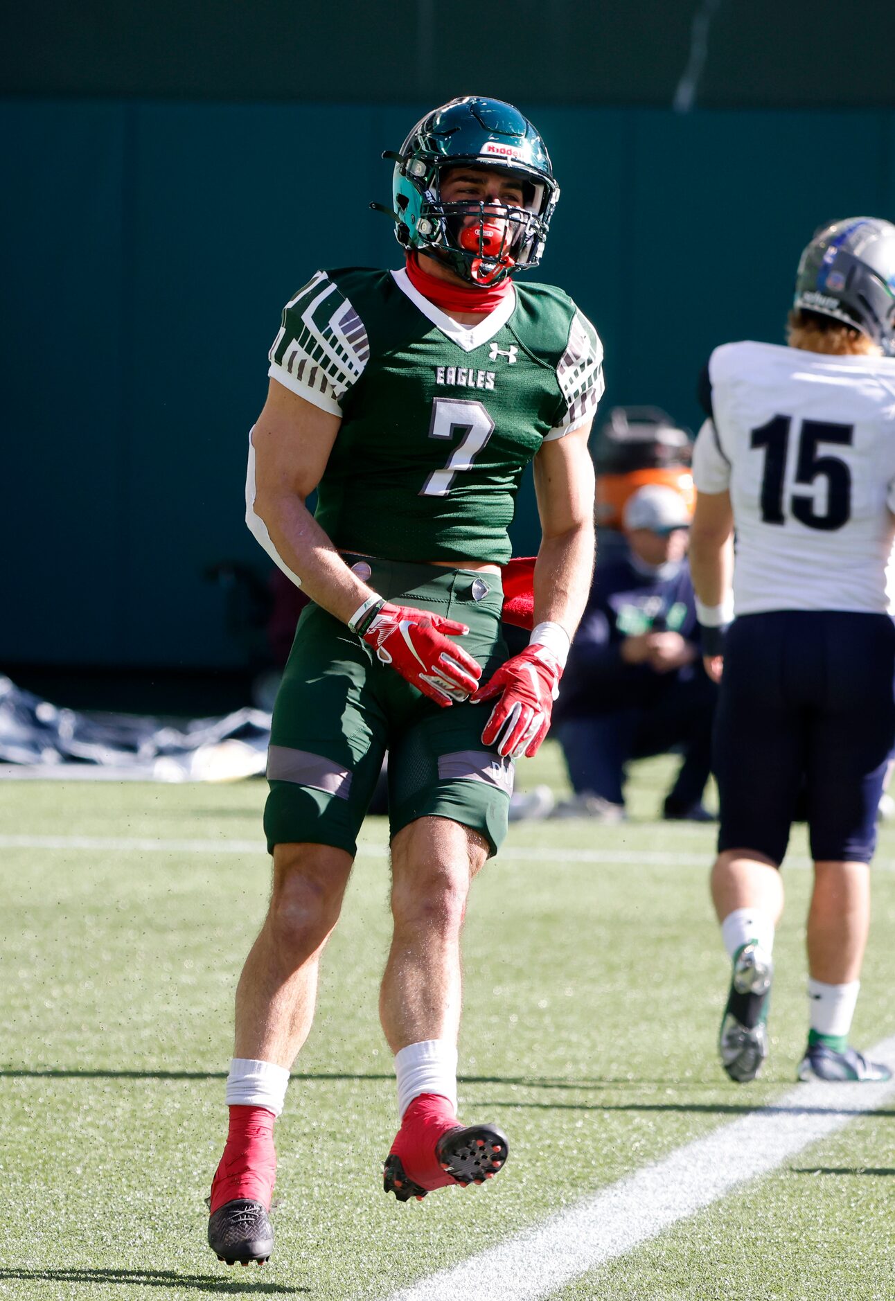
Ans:
<svg viewBox="0 0 895 1301"><path fill-rule="evenodd" d="M241 664L203 571L265 566L242 492L280 308L319 265L397 264L367 203L421 107L0 103L0 665ZM814 226L895 217L886 109L520 107L562 185L539 275L602 334L606 406L695 428L709 350L782 337Z"/></svg>

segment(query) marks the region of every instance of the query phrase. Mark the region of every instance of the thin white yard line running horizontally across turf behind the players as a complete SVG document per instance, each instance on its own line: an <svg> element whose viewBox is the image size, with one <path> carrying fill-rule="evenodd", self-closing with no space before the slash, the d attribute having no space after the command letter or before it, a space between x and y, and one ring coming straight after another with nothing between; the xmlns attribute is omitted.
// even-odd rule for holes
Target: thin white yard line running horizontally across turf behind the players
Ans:
<svg viewBox="0 0 895 1301"><path fill-rule="evenodd" d="M164 840L157 837L118 837L118 835L0 835L0 850L94 850L116 851L121 853L250 853L264 856L264 840ZM384 844L360 843L358 857L384 859L388 850ZM712 851L706 853L666 853L661 850L563 850L522 848L505 846L502 859L519 863L593 863L593 864L634 864L645 868L706 868L712 861ZM787 868L808 868L810 860L794 855L784 864ZM891 859L874 859L874 870L892 872Z"/></svg>

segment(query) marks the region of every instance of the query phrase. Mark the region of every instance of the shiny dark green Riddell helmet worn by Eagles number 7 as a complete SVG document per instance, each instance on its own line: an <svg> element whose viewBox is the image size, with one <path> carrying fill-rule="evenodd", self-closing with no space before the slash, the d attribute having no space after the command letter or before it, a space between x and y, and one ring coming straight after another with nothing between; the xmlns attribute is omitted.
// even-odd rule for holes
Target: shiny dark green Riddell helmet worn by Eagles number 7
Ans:
<svg viewBox="0 0 895 1301"><path fill-rule="evenodd" d="M382 156L394 159L393 216L405 248L438 250L471 284L497 285L514 271L537 265L559 186L544 141L513 104L475 95L453 99L416 124L399 154ZM523 207L501 213L506 232L497 243L488 224L493 204L441 199L444 173L463 164L522 181ZM470 224L476 208L479 220Z"/></svg>

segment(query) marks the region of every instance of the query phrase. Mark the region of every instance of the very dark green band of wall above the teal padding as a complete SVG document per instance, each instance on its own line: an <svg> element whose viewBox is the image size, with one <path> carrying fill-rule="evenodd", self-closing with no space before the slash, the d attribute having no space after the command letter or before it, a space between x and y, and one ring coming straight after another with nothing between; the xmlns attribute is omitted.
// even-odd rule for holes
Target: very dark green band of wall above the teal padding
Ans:
<svg viewBox="0 0 895 1301"><path fill-rule="evenodd" d="M0 87L303 103L454 95L669 107L895 105L891 0L40 0L0 10Z"/></svg>

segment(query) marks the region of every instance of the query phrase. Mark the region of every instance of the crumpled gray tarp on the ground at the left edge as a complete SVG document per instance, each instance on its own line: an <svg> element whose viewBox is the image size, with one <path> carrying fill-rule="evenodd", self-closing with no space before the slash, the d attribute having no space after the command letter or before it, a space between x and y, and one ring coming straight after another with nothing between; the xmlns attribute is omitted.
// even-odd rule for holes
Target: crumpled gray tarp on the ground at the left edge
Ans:
<svg viewBox="0 0 895 1301"><path fill-rule="evenodd" d="M172 725L60 709L0 677L4 777L215 782L264 771L271 716L238 709Z"/></svg>

